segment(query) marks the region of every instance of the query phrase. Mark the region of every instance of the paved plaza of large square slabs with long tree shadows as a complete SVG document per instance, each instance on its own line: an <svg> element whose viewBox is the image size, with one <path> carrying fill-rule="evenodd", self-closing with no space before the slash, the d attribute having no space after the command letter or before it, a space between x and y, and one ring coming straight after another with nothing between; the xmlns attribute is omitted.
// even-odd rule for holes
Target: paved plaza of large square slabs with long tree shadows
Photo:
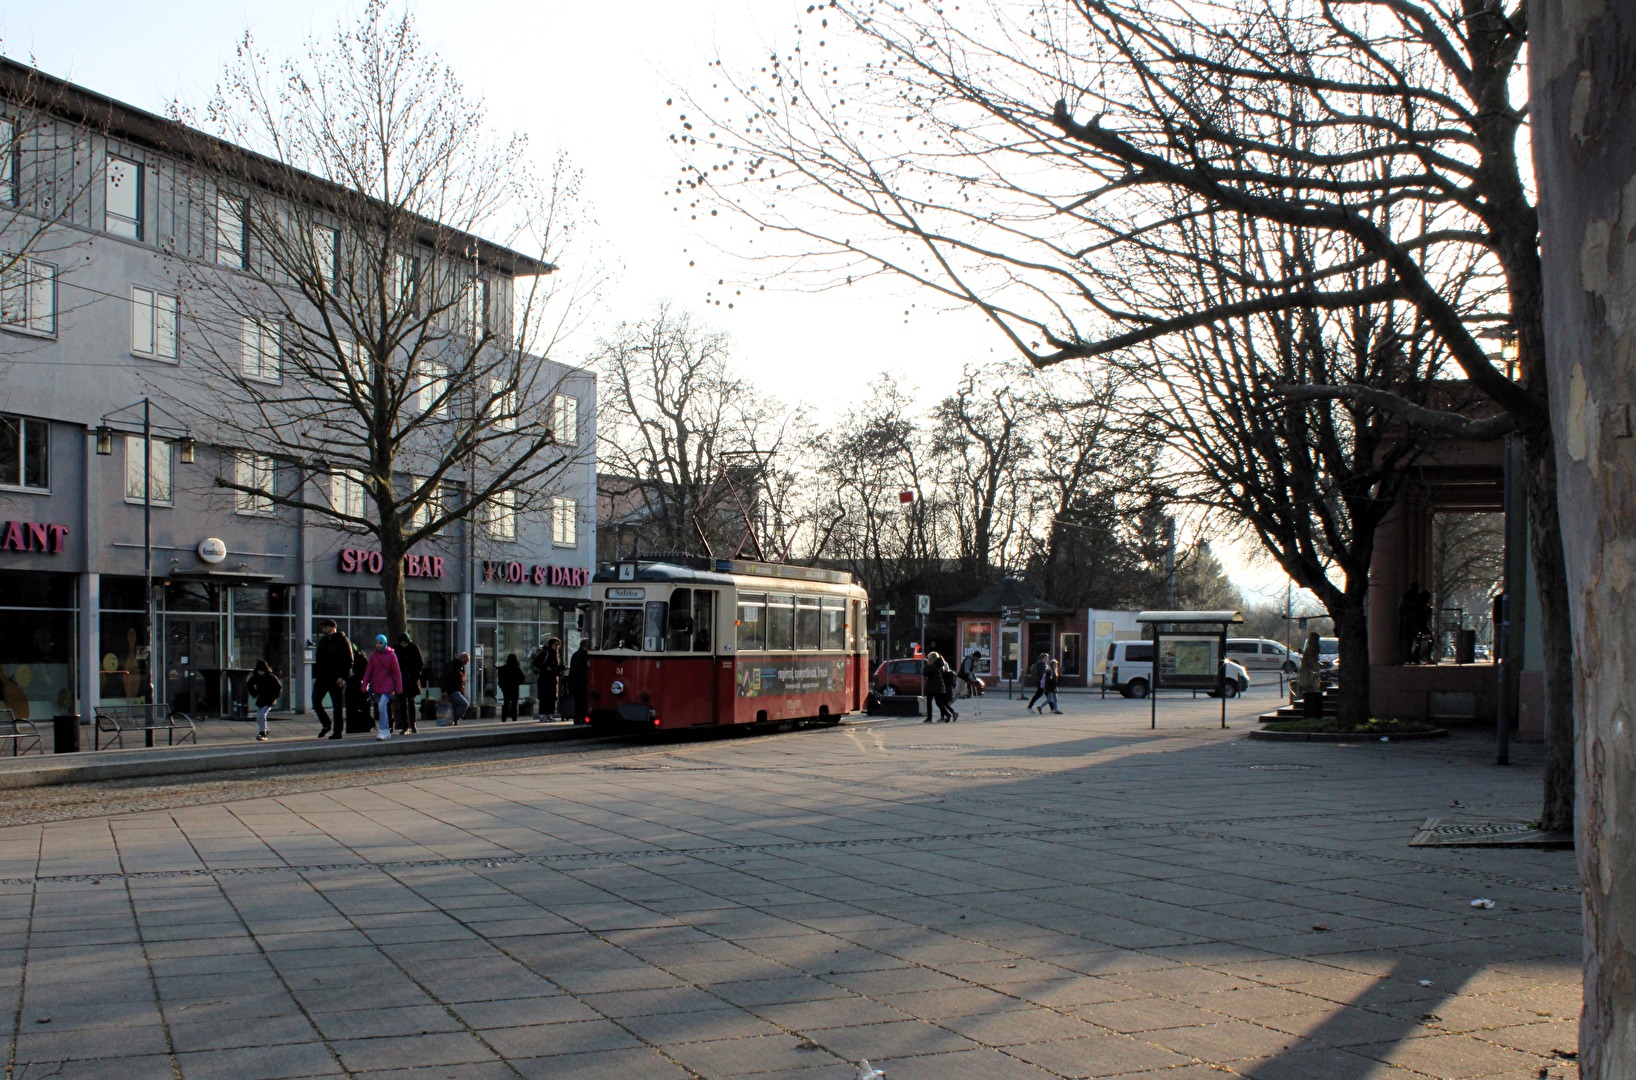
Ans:
<svg viewBox="0 0 1636 1080"><path fill-rule="evenodd" d="M1270 702L990 695L8 826L7 1075L1575 1075L1572 853L1407 846L1536 817L1539 769L1247 740Z"/></svg>

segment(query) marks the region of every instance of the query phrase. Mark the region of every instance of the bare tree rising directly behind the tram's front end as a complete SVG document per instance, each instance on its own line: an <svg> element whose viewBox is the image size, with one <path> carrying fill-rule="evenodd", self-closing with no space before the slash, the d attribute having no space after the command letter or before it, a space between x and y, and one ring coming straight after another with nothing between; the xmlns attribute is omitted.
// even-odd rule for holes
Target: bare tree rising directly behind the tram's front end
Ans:
<svg viewBox="0 0 1636 1080"><path fill-rule="evenodd" d="M648 550L738 555L800 416L736 376L726 334L661 304L602 339L600 461ZM782 488L780 488L782 491ZM761 555L769 551L761 550Z"/></svg>

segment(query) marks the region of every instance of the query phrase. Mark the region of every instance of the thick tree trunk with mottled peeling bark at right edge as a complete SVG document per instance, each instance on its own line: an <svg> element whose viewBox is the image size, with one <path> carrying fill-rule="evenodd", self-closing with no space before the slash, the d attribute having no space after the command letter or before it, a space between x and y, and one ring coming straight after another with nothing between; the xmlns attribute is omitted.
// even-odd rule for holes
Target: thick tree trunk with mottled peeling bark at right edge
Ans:
<svg viewBox="0 0 1636 1080"><path fill-rule="evenodd" d="M1530 8L1551 421L1579 725L1585 1080L1636 1075L1636 0ZM1626 925L1629 920L1629 925ZM1629 936L1626 936L1629 934Z"/></svg>

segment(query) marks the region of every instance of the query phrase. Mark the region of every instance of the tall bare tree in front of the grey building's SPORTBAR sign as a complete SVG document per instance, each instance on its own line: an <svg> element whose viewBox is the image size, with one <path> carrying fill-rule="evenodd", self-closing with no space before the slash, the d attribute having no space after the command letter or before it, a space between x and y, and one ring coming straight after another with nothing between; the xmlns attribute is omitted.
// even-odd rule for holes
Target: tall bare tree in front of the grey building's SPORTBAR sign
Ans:
<svg viewBox="0 0 1636 1080"><path fill-rule="evenodd" d="M247 36L204 115L173 113L221 137L175 131L213 224L177 260L204 353L178 406L239 509L375 538L401 633L411 548L515 535L579 453L540 357L579 311L556 272L578 175L538 177L380 0L276 67Z"/></svg>

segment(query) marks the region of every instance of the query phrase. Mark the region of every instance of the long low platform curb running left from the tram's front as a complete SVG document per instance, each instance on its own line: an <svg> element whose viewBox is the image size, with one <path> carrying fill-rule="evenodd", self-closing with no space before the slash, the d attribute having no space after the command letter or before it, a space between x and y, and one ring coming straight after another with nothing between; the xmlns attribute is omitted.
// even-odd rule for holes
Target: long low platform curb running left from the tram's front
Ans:
<svg viewBox="0 0 1636 1080"><path fill-rule="evenodd" d="M64 761L47 759L31 769L0 771L0 790L16 790L23 787L47 787L52 784L93 784L97 781L124 781L144 776L187 776L190 772L224 772L234 769L263 769L285 764L309 764L314 761L347 761L352 758L396 758L404 754L425 754L442 749L473 749L484 746L527 746L532 743L561 743L568 740L602 735L587 725L555 725L548 728L522 730L483 730L470 735L427 731L425 735L394 735L384 743L370 735L353 735L332 746L330 740L319 745L317 738L290 741L283 745L252 746L203 746L173 751L170 748L133 749L133 751L80 751L90 754L124 754L111 761ZM70 754L65 754L70 756ZM77 754L72 754L77 756Z"/></svg>

